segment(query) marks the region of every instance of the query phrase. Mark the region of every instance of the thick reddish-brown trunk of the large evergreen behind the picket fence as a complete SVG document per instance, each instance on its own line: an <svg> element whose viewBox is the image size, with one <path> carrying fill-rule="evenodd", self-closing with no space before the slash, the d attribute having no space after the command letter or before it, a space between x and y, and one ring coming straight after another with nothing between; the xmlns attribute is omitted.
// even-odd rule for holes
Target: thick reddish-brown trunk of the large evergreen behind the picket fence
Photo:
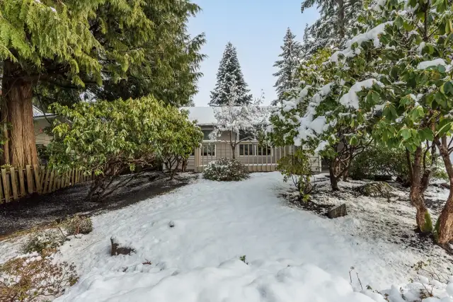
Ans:
<svg viewBox="0 0 453 302"><path fill-rule="evenodd" d="M2 120L11 124L9 152L4 148L4 163L9 161L13 166L25 167L38 164L38 152L33 125L32 83L18 76L21 76L21 67L4 61L1 115Z"/></svg>

